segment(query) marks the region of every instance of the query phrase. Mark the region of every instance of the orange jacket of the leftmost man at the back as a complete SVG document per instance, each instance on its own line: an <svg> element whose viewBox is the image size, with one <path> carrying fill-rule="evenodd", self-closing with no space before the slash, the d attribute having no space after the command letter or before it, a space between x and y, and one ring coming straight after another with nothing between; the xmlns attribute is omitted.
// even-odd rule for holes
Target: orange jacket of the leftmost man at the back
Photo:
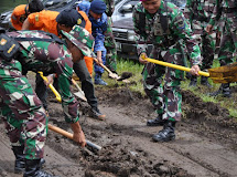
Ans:
<svg viewBox="0 0 237 177"><path fill-rule="evenodd" d="M21 30L24 20L28 18L25 8L26 4L20 4L14 8L11 14L11 23L15 30Z"/></svg>

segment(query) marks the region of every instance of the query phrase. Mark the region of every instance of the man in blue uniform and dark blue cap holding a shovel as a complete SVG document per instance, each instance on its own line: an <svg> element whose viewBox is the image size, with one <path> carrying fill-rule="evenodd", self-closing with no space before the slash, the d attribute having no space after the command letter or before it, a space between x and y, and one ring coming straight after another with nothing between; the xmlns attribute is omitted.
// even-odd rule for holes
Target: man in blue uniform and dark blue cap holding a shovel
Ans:
<svg viewBox="0 0 237 177"><path fill-rule="evenodd" d="M94 0L91 3L88 1L82 1L77 4L78 9L86 12L93 28L93 37L95 38L94 51L97 54L97 59L100 63L106 64L106 48L105 48L105 32L107 30L107 15L106 4L101 0ZM95 69L95 84L107 85L101 79L105 72L101 66L94 64Z"/></svg>

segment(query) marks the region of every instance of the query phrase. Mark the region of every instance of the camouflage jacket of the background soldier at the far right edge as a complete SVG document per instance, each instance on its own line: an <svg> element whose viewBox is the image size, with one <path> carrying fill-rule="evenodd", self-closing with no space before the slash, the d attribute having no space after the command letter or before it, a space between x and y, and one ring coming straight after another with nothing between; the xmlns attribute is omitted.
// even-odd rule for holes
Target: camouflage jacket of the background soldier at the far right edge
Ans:
<svg viewBox="0 0 237 177"><path fill-rule="evenodd" d="M233 9L233 13L226 13L225 9ZM234 14L234 15L233 15ZM214 8L214 12L209 24L215 24L216 21L220 19L220 17L236 19L237 17L237 0L216 0L216 6ZM235 20L236 21L236 20Z"/></svg>

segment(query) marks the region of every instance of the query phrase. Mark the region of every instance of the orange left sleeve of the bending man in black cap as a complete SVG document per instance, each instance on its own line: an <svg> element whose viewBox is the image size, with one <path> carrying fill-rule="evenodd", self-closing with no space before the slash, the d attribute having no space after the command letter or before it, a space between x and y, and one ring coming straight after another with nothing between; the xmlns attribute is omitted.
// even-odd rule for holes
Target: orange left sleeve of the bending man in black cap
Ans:
<svg viewBox="0 0 237 177"><path fill-rule="evenodd" d="M31 29L33 29L33 30L42 30L44 27L40 12L29 14L28 21L30 22Z"/></svg>

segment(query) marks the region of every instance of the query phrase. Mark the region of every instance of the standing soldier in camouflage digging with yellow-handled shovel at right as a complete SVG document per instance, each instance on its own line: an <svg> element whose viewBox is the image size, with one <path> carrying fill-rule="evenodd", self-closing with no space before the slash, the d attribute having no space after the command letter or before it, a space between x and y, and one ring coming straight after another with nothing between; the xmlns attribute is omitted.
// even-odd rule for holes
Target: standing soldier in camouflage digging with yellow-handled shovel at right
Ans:
<svg viewBox="0 0 237 177"><path fill-rule="evenodd" d="M202 61L200 48L187 20L173 3L162 0L142 0L133 9L133 23L139 61L146 64L142 72L144 91L158 113L158 117L149 119L147 125L163 125L163 129L153 135L153 140L169 142L175 138L175 123L181 119L182 115L180 84L184 72L148 63L142 60L141 54L147 56L147 44L152 43L151 58L184 65L179 42L183 40L193 64L191 73L198 75L198 65Z"/></svg>

